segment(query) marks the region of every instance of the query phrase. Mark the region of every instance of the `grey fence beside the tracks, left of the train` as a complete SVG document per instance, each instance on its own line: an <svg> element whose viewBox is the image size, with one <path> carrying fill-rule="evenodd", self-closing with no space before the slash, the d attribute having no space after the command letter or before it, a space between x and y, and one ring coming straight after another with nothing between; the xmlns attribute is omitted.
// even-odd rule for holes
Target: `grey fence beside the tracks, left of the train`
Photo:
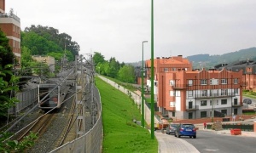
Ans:
<svg viewBox="0 0 256 153"><path fill-rule="evenodd" d="M34 105L38 100L38 88L32 88L25 92L18 93L15 97L19 99L20 102L16 103L15 107L9 108L10 114L18 113L28 108L28 106Z"/></svg>

